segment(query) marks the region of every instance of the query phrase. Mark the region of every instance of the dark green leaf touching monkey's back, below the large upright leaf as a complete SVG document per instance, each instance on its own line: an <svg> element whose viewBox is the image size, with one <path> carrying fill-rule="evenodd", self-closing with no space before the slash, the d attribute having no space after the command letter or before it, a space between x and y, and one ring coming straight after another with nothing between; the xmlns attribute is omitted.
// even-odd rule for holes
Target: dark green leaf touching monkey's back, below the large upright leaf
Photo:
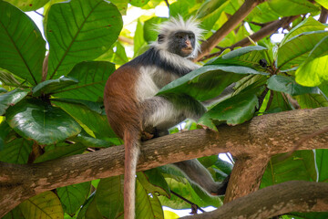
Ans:
<svg viewBox="0 0 328 219"><path fill-rule="evenodd" d="M78 63L67 75L67 77L76 78L78 80L77 85L63 88L54 96L90 101L102 99L106 81L114 70L114 64L106 61Z"/></svg>

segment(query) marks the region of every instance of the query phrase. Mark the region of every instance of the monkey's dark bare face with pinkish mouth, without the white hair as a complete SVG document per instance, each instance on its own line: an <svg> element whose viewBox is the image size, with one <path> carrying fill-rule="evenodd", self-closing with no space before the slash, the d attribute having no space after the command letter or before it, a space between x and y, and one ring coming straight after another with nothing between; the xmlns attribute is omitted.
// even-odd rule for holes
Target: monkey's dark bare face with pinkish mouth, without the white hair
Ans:
<svg viewBox="0 0 328 219"><path fill-rule="evenodd" d="M168 37L168 50L180 57L188 57L195 48L195 35L191 31L179 31Z"/></svg>

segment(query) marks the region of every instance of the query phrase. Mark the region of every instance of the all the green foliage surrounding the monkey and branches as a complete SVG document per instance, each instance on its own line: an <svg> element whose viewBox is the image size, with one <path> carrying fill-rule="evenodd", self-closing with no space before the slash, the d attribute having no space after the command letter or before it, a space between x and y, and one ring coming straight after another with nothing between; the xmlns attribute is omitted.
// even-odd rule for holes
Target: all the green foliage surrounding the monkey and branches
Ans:
<svg viewBox="0 0 328 219"><path fill-rule="evenodd" d="M108 77L116 66L142 54L157 39L155 27L167 20L139 16L133 40L122 30L122 16L128 3L143 9L162 4L159 0L103 1L15 1L0 0L0 162L46 162L106 148L123 142L109 127L103 106ZM217 31L242 5L241 0L178 0L170 2L169 15L196 16L206 30L204 38ZM35 23L23 11L46 5L46 41ZM158 95L168 99L190 96L199 101L216 98L228 86L229 95L215 99L198 123L216 130L222 123L238 125L258 114L293 110L289 98L302 109L328 107L327 25L313 19L325 1L268 0L257 5L244 21L252 32L281 18L312 13L296 19L282 42L273 45L262 39L257 46L231 51L231 45L250 36L238 26L211 53L220 57L190 74L172 81ZM19 9L21 10L19 10ZM121 31L122 30L122 31ZM49 45L46 58L46 42ZM260 46L261 45L261 46ZM221 48L222 47L222 48ZM45 61L47 60L47 61ZM45 61L45 62L44 62ZM113 63L111 63L113 62ZM46 69L47 68L47 69ZM188 121L185 129L198 129ZM178 129L172 132L178 132ZM34 150L43 153L34 158ZM90 151L90 150L88 150ZM261 187L290 180L327 182L326 150L295 151L291 156L274 156L265 171ZM199 159L215 181L222 181L232 169L217 155ZM56 168L56 167L53 167ZM69 174L69 173L67 173ZM99 181L99 180L98 180ZM57 188L26 200L7 218L123 218L123 176ZM163 218L161 205L190 208L176 195L201 207L219 207L221 197L205 193L172 166L137 174L137 218ZM294 218L326 218L327 214L291 214ZM291 217L292 217L291 216ZM283 215L283 218L291 218Z"/></svg>

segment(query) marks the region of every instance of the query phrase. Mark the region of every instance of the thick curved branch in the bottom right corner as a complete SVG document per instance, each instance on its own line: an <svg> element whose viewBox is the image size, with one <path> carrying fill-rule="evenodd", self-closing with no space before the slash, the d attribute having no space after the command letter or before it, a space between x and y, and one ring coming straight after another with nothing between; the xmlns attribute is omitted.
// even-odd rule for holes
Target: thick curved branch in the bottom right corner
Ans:
<svg viewBox="0 0 328 219"><path fill-rule="evenodd" d="M290 212L328 211L328 183L292 181L251 193L210 213L182 218L271 218ZM238 209L238 210L236 210Z"/></svg>

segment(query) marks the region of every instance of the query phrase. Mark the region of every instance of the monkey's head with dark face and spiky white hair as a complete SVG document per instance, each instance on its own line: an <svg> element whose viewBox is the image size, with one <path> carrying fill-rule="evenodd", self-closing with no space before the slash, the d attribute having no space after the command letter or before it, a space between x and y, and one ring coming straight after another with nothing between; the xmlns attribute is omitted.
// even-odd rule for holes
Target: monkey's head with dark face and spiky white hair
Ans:
<svg viewBox="0 0 328 219"><path fill-rule="evenodd" d="M180 57L196 57L202 30L195 19L171 18L159 26L157 47Z"/></svg>

